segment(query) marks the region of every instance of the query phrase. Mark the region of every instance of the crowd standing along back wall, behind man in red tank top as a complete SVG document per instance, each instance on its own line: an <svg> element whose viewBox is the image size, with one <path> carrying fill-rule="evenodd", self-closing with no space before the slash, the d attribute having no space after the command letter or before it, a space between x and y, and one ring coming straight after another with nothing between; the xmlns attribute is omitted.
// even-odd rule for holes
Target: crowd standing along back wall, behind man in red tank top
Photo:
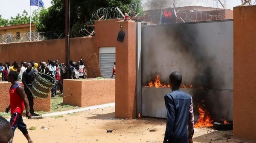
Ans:
<svg viewBox="0 0 256 143"><path fill-rule="evenodd" d="M8 75L11 71L18 73L17 81L21 81L24 86L24 91L29 101L30 113L32 116L38 116L34 112L34 99L31 93L33 81L36 73L48 74L55 79L55 84L51 90L51 98L54 98L57 93L57 87L59 87L60 94L63 94L63 79L67 79L67 71L69 72L68 79L86 79L86 68L83 64L83 59L80 59L77 63L73 60L70 61L70 68L67 68L64 63L59 63L58 60L48 59L48 63L35 61L22 61L20 64L15 61L0 63L0 81L8 81Z"/></svg>

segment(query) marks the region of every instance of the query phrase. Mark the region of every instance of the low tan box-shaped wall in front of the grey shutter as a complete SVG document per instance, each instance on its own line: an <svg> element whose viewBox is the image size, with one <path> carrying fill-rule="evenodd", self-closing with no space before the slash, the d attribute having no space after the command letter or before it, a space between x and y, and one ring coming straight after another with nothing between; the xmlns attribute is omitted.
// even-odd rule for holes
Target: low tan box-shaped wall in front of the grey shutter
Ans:
<svg viewBox="0 0 256 143"><path fill-rule="evenodd" d="M114 79L65 79L64 87L64 104L88 107L115 102Z"/></svg>

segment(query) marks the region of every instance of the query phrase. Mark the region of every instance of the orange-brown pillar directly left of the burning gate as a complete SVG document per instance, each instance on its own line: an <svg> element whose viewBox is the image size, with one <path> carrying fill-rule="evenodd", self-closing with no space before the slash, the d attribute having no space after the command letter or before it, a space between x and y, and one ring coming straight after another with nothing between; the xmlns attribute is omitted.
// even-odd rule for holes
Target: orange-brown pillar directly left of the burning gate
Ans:
<svg viewBox="0 0 256 143"><path fill-rule="evenodd" d="M125 32L123 42L116 41L116 109L117 118L136 117L136 22L116 22ZM118 31L119 32L119 31ZM116 39L118 32L116 33Z"/></svg>

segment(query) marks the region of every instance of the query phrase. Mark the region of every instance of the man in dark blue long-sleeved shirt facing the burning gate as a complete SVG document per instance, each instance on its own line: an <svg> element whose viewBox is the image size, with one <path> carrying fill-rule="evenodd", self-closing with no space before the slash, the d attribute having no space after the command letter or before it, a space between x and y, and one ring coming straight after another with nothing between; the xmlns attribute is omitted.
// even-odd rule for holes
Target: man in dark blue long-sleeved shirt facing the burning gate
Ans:
<svg viewBox="0 0 256 143"><path fill-rule="evenodd" d="M169 83L172 92L164 96L167 110L166 132L163 143L193 143L194 114L192 97L180 91L182 76L172 72Z"/></svg>

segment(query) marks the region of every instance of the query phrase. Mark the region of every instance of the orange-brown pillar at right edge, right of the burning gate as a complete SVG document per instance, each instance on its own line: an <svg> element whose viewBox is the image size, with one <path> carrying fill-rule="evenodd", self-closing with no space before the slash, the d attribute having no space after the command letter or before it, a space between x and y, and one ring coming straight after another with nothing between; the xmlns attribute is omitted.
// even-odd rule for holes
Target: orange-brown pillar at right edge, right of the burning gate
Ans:
<svg viewBox="0 0 256 143"><path fill-rule="evenodd" d="M234 8L234 137L256 142L256 6Z"/></svg>

